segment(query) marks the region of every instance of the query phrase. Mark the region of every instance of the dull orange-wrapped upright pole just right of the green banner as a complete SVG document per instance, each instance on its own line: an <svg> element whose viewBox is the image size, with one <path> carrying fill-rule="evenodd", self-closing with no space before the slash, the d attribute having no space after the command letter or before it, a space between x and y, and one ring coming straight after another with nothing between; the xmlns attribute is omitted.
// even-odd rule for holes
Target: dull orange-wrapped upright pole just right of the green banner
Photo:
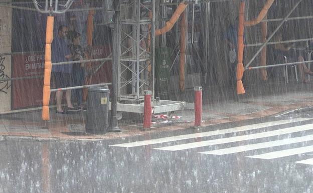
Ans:
<svg viewBox="0 0 313 193"><path fill-rule="evenodd" d="M185 49L186 49L186 17L185 11L181 15L181 40L180 40L180 90L185 91Z"/></svg>

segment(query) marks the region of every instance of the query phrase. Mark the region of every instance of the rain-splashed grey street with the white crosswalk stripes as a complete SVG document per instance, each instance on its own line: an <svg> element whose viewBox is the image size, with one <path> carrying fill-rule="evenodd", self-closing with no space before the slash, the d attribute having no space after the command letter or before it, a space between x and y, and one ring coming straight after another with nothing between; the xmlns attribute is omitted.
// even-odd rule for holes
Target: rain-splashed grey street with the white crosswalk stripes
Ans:
<svg viewBox="0 0 313 193"><path fill-rule="evenodd" d="M311 114L107 140L3 138L0 192L311 192Z"/></svg>

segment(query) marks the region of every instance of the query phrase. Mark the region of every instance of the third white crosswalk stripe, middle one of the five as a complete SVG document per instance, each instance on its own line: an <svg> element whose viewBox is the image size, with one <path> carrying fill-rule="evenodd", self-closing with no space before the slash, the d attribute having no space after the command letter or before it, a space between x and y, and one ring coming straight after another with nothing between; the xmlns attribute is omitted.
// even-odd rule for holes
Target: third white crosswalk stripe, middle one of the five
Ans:
<svg viewBox="0 0 313 193"><path fill-rule="evenodd" d="M263 142L263 143L254 143L254 144L249 144L249 145L241 145L241 146L217 149L217 150L212 150L212 151L204 151L204 152L199 152L199 153L211 154L211 155L225 155L225 154L238 153L238 152L250 151L250 150L255 150L255 149L287 145L287 144L292 144L292 143L299 143L299 142L310 141L310 140L313 140L313 135L287 138L287 139L269 141L269 142Z"/></svg>

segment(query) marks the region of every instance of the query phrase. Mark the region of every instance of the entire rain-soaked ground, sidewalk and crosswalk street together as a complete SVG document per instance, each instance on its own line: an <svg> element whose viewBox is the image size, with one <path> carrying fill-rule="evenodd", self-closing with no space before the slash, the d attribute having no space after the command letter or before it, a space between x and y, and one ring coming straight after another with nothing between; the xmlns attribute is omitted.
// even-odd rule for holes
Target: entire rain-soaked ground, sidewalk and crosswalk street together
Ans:
<svg viewBox="0 0 313 193"><path fill-rule="evenodd" d="M83 112L1 115L0 192L312 191L310 90L204 103L200 129L181 111L103 135L85 133Z"/></svg>

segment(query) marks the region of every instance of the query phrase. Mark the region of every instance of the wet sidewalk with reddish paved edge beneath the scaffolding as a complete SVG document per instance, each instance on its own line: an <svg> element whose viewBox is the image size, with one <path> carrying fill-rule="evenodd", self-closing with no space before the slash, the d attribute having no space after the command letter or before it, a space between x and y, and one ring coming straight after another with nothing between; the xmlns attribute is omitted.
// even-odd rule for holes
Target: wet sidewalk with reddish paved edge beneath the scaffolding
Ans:
<svg viewBox="0 0 313 193"><path fill-rule="evenodd" d="M204 92L204 97L211 97L210 100L203 99L203 126L242 121L260 117L275 115L288 110L313 106L313 84L303 88L295 86L287 92L280 94L267 91L250 92L240 99L222 100L221 97L212 102L212 96ZM263 89L264 90L264 89ZM265 93L259 95L260 93ZM247 92L248 93L248 92ZM214 102L215 101L215 102ZM85 114L77 112L68 115L59 115L55 109L50 109L51 120L41 120L41 111L30 111L0 115L0 135L7 137L32 137L37 139L68 139L68 140L99 140L105 138L126 137L143 135L148 133L163 132L185 129L193 126L194 112L191 110L175 112L165 118L153 118L152 127L149 131L141 131L142 123L124 119L119 121L122 129L120 133L106 133L103 135L92 135L85 133Z"/></svg>

